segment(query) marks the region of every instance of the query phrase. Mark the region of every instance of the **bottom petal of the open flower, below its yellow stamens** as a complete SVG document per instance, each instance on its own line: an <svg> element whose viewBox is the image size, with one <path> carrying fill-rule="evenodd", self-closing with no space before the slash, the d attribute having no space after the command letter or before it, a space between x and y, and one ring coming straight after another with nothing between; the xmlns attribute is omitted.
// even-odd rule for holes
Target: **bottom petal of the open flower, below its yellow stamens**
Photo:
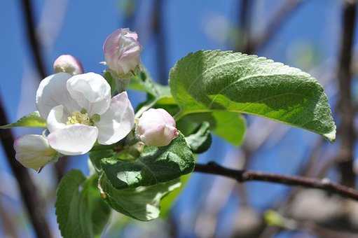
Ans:
<svg viewBox="0 0 358 238"><path fill-rule="evenodd" d="M97 127L88 125L67 125L48 135L48 143L64 155L83 155L88 153L96 142Z"/></svg>

